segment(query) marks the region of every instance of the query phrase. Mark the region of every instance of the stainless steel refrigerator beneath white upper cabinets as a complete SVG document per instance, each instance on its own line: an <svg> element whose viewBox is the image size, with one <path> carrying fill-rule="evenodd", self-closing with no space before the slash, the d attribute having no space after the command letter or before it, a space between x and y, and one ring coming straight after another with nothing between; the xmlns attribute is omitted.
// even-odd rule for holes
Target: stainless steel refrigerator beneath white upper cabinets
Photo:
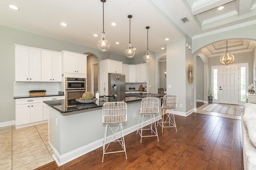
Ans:
<svg viewBox="0 0 256 170"><path fill-rule="evenodd" d="M125 95L125 74L108 73L108 95Z"/></svg>

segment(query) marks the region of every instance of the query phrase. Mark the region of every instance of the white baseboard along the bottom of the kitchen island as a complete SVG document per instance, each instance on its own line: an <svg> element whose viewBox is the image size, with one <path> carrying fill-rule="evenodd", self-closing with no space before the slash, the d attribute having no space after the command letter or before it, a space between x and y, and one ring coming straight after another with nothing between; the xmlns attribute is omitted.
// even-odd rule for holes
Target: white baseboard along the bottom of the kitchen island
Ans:
<svg viewBox="0 0 256 170"><path fill-rule="evenodd" d="M156 116L155 119L157 121L157 120L161 119L161 116ZM149 125L150 124L150 120L145 121L143 124L145 126ZM128 134L130 134L130 133L132 133L134 131L136 131L137 128L138 128L138 125L134 125L132 127L124 129L124 131L123 131L124 136L128 135ZM113 135L108 136L106 140L110 141L112 136ZM116 136L117 137L121 137L121 133L120 132L116 133ZM78 149L72 150L72 151L70 151L70 152L68 152L66 154L62 154L62 155L60 155L58 153L58 151L54 147L52 147L52 145L50 144L50 146L53 149L52 157L56 161L56 164L58 166L61 166L61 165L66 164L67 162L70 162L70 161L72 161L72 160L74 160L74 159L76 159L76 158L78 158L78 157L80 157L80 156L82 156L82 155L84 155L84 154L86 154L88 152L91 152L92 150L95 150L95 149L98 149L98 148L102 147L103 146L103 140L104 140L104 138L99 139L98 141L94 141L94 142L92 142L92 143L90 143L88 145L85 145L83 147L80 147ZM103 152L103 150L102 150L102 152Z"/></svg>

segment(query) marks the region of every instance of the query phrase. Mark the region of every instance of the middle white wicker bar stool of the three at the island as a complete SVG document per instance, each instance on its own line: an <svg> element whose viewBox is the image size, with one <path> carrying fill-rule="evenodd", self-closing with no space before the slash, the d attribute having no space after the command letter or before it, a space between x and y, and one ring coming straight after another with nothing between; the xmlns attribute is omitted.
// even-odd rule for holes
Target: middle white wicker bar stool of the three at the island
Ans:
<svg viewBox="0 0 256 170"><path fill-rule="evenodd" d="M141 108L138 110L138 113L140 114L139 117L139 123L137 128L137 133L140 134L140 143L142 141L142 137L157 137L158 140L158 134L156 129L156 119L155 119L155 113L159 112L159 98L143 98L141 101ZM149 120L150 119L150 120ZM145 121L150 121L149 127L150 129L143 129L143 123ZM154 127L154 129L153 129ZM151 130L151 134L153 135L142 135L143 130Z"/></svg>

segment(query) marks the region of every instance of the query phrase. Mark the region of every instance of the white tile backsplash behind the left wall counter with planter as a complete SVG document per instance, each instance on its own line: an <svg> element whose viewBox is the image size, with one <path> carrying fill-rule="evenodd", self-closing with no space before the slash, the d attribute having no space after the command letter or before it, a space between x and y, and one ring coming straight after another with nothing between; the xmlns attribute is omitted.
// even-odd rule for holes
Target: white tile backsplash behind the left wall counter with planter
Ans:
<svg viewBox="0 0 256 170"><path fill-rule="evenodd" d="M28 96L30 90L46 90L46 94L58 94L61 82L13 82L14 96Z"/></svg>

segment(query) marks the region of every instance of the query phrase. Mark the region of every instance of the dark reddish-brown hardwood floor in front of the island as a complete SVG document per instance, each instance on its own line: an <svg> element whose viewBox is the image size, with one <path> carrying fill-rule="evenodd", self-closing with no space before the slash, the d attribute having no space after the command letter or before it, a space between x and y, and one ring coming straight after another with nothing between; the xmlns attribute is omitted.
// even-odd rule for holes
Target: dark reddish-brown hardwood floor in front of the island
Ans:
<svg viewBox="0 0 256 170"><path fill-rule="evenodd" d="M136 132L124 137L124 152L106 154L102 163L102 148L98 148L60 167L55 162L40 170L242 170L241 121L192 113L187 117L175 115L175 128L158 127L156 137L140 136ZM114 143L112 148L119 146Z"/></svg>

